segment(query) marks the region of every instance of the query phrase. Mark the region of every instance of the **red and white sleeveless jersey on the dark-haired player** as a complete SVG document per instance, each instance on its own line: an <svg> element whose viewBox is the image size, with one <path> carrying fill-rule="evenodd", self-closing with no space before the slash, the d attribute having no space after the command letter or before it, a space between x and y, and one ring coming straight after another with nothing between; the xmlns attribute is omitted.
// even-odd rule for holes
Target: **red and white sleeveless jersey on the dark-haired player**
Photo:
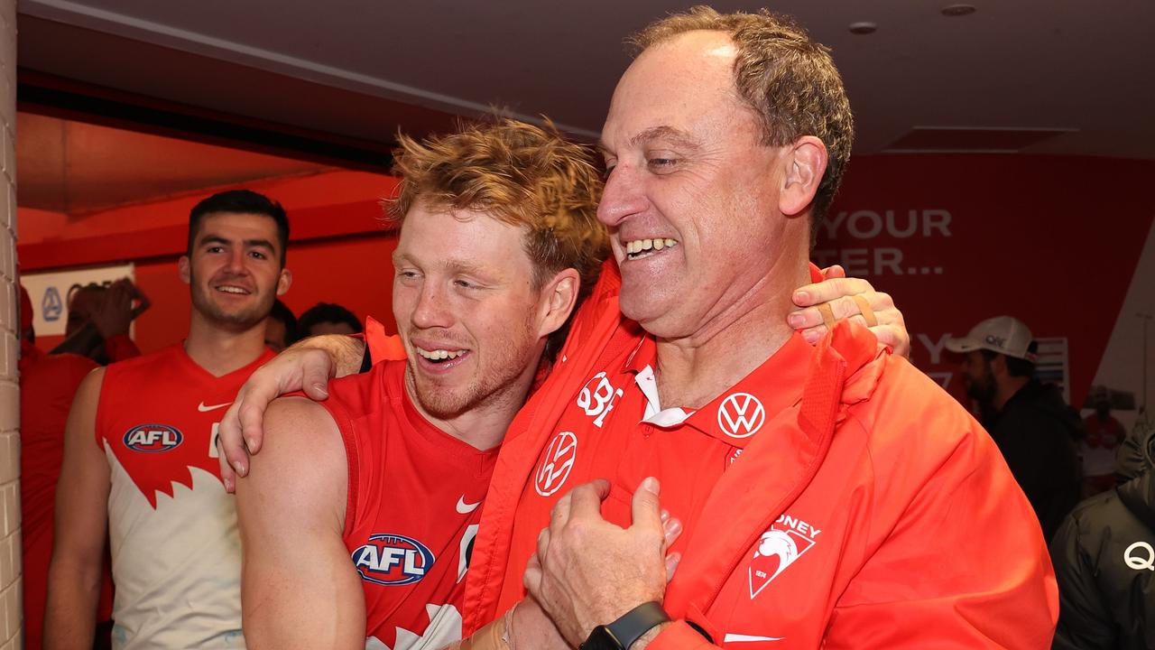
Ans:
<svg viewBox="0 0 1155 650"><path fill-rule="evenodd" d="M237 512L215 438L273 356L215 377L178 344L105 370L96 443L111 470L114 648L244 648Z"/></svg>

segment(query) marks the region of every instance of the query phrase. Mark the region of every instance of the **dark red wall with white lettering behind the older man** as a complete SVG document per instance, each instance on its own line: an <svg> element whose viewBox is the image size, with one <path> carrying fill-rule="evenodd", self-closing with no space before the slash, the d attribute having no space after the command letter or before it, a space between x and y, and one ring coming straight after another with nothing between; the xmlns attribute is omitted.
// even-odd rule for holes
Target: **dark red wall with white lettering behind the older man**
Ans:
<svg viewBox="0 0 1155 650"><path fill-rule="evenodd" d="M1066 337L1081 405L1155 219L1152 178L1152 161L858 157L813 258L891 293L911 361L955 394L957 360L939 354L946 335L1006 313L1036 337Z"/></svg>

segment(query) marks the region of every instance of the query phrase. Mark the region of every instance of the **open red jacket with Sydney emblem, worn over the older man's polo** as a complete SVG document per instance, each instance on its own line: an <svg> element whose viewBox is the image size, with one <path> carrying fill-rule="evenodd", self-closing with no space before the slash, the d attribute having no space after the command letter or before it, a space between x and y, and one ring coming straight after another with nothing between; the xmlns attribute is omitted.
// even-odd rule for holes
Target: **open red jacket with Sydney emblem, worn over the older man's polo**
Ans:
<svg viewBox="0 0 1155 650"><path fill-rule="evenodd" d="M501 598L526 561L509 557L513 522L559 414L599 361L643 335L618 315L616 281L595 291L565 360L511 427L467 577L465 631L519 591ZM711 647L686 620L732 648L1049 648L1057 588L1042 533L969 414L847 324L815 348L800 389L683 533L664 601L679 621L650 648Z"/></svg>

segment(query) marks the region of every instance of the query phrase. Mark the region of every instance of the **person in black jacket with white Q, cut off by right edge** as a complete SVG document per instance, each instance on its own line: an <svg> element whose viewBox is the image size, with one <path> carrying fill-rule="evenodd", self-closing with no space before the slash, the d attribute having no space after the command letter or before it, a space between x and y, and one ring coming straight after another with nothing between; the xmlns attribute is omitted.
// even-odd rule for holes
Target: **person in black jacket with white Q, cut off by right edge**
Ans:
<svg viewBox="0 0 1155 650"><path fill-rule="evenodd" d="M1055 650L1155 650L1155 430L1119 450L1119 486L1080 503L1051 541Z"/></svg>

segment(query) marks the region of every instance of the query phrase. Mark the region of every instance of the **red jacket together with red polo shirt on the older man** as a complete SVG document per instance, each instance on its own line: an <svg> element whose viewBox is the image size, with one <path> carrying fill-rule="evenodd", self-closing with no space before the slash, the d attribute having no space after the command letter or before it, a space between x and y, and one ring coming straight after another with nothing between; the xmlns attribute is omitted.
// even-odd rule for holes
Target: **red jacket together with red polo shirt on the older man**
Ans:
<svg viewBox="0 0 1155 650"><path fill-rule="evenodd" d="M686 620L725 648L1049 648L1057 588L1038 524L993 442L933 382L841 324L813 350L788 342L684 422L640 424L654 346L620 317L618 281L608 266L509 429L467 633L522 597L566 490L610 479L603 512L628 525L653 474L685 524L664 601L678 621L655 650L713 647Z"/></svg>

